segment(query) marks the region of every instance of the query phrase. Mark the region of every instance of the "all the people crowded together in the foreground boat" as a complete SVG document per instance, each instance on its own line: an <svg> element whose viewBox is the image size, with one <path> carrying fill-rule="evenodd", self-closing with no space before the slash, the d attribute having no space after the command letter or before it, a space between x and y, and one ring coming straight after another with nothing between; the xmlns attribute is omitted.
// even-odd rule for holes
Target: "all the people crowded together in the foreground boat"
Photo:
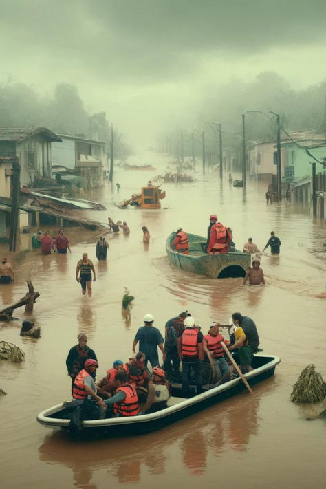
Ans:
<svg viewBox="0 0 326 489"><path fill-rule="evenodd" d="M203 334L188 311L166 322L165 338L153 323L152 314L146 314L144 325L135 334L128 360L114 360L97 382L95 351L87 346L85 334L78 335L78 345L69 350L66 359L73 400L65 403L67 409L76 411L76 419L72 419L77 424L87 419L85 416L91 419L124 417L164 409L173 382L182 384L180 392L185 398L227 382L237 374L228 363L226 347L232 351L243 373L253 369L252 354L259 347L259 336L254 321L248 316L239 312L232 314L228 340L221 335L221 325L217 321ZM162 351L162 366L157 349Z"/></svg>

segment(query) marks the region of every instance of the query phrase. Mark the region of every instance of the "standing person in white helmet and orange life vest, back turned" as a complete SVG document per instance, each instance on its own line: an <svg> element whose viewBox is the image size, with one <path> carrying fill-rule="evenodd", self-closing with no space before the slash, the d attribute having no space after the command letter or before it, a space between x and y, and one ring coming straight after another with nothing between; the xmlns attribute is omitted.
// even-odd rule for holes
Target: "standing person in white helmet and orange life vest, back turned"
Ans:
<svg viewBox="0 0 326 489"><path fill-rule="evenodd" d="M195 319L191 316L184 320L184 327L184 332L177 342L179 356L182 360L182 389L189 390L191 370L193 370L197 394L199 394L202 392L200 360L204 360L203 334L195 326Z"/></svg>

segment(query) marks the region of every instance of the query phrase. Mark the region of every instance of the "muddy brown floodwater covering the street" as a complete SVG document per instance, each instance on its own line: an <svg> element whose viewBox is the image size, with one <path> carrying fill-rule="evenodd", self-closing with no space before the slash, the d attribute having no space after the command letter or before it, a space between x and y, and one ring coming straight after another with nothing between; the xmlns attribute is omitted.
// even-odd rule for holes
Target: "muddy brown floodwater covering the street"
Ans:
<svg viewBox="0 0 326 489"><path fill-rule="evenodd" d="M132 158L129 162L140 164ZM306 417L325 404L298 406L290 402L290 393L309 363L326 379L325 299L316 297L326 292L325 224L296 204L267 206L263 183L248 182L243 193L228 184L227 175L221 186L215 173L204 178L195 173L194 184L162 185L166 199L161 210L120 210L114 202L164 173L164 158L148 153L142 162L153 163L157 171L117 169L120 193L113 184L90 196L106 204L107 211L89 216L106 222L110 215L131 228L128 237L107 235L107 262L96 260L98 235L76 228L67 229L72 245L67 256L42 257L30 250L13 257L6 252L17 280L0 287L0 303L9 305L25 295L25 281L32 278L41 294L32 318L41 325L42 336L19 336L23 308L14 314L19 321L0 324L0 340L18 345L26 356L21 365L0 362L0 387L8 394L0 398L1 488L323 487L326 424ZM188 232L206 235L210 213L232 228L238 248L252 237L262 249L271 230L279 236L280 256L267 252L261 259L265 287L242 287L242 279L208 279L169 263L165 240L171 230L181 224ZM142 226L151 233L147 248ZM91 298L82 296L75 279L83 252L94 259L97 272ZM135 296L130 318L121 312L124 287ZM211 320L226 323L232 312L252 317L264 353L281 358L274 378L254 387L253 395L244 392L142 437L78 444L36 422L39 411L69 400L65 358L78 333L88 335L102 377L113 360L127 359L144 314L151 312L164 332L166 320L183 309L191 311L204 332Z"/></svg>

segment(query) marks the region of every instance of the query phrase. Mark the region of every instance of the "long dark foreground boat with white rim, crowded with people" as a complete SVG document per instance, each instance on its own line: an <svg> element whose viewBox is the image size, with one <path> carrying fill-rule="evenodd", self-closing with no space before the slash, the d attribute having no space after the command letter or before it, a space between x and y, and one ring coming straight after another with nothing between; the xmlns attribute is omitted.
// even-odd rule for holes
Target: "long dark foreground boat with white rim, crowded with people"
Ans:
<svg viewBox="0 0 326 489"><path fill-rule="evenodd" d="M281 360L276 356L254 355L252 367L254 370L245 374L250 387L262 382L274 375L275 367ZM142 435L168 426L169 424L182 420L182 418L197 413L208 406L217 404L246 391L246 386L241 378L235 378L221 384L213 389L208 389L201 394L189 398L183 393L181 386L172 389L171 398L167 407L155 413L142 414L138 416L111 417L104 420L83 421L81 436L121 436ZM69 411L63 403L45 409L37 415L36 420L44 426L51 428L63 428L69 430Z"/></svg>

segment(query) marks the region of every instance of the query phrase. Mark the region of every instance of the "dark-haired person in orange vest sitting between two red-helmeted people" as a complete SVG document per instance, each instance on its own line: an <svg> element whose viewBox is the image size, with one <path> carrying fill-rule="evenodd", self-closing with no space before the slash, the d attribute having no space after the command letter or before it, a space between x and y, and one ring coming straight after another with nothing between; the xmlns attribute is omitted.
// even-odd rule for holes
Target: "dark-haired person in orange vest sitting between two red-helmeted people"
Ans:
<svg viewBox="0 0 326 489"><path fill-rule="evenodd" d="M139 413L138 395L135 385L129 383L128 374L126 372L118 372L116 374L117 389L116 393L110 398L99 401L107 409L105 417L129 417L137 416Z"/></svg>

